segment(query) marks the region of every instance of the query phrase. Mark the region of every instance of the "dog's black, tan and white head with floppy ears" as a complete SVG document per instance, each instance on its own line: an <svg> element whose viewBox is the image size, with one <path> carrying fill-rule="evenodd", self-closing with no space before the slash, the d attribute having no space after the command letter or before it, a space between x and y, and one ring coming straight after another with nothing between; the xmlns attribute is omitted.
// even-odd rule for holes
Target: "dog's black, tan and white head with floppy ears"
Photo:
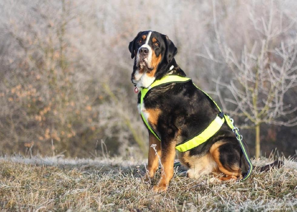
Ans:
<svg viewBox="0 0 297 212"><path fill-rule="evenodd" d="M137 87L147 88L156 77L164 74L177 53L167 35L159 32L139 32L129 43L131 58L135 57L131 80Z"/></svg>

